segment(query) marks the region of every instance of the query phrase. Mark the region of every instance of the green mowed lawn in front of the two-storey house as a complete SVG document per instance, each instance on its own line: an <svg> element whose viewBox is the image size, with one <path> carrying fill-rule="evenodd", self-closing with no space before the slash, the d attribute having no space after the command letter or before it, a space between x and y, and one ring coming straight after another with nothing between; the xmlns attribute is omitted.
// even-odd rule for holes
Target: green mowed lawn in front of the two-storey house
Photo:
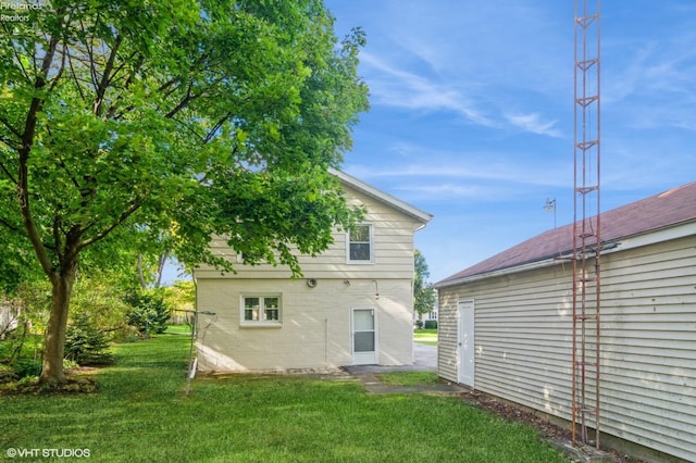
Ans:
<svg viewBox="0 0 696 463"><path fill-rule="evenodd" d="M5 449L98 462L563 462L527 426L457 398L368 395L352 380L231 375L183 393L188 338L117 345L98 391L0 397Z"/></svg>

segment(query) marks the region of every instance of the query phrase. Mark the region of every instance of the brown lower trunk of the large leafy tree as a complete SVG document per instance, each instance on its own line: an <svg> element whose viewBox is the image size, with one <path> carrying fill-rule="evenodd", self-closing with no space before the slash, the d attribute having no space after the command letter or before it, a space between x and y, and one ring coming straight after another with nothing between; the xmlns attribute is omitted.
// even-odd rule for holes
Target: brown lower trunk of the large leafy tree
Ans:
<svg viewBox="0 0 696 463"><path fill-rule="evenodd" d="M67 380L63 371L63 356L67 329L67 309L73 292L76 266L76 263L73 263L67 266L67 270L51 275L51 314L46 331L44 367L39 377L41 384L58 385Z"/></svg>

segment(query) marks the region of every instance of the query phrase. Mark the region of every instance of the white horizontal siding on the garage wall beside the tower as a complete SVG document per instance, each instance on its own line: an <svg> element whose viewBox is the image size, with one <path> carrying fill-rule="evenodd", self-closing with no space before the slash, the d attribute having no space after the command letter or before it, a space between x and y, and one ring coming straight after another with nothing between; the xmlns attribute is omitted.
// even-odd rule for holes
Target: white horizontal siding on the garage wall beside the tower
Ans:
<svg viewBox="0 0 696 463"><path fill-rule="evenodd" d="M601 274L601 430L688 461L695 242L607 253ZM558 264L440 289L440 375L457 379L457 301L474 299L476 389L570 420L571 273Z"/></svg>

